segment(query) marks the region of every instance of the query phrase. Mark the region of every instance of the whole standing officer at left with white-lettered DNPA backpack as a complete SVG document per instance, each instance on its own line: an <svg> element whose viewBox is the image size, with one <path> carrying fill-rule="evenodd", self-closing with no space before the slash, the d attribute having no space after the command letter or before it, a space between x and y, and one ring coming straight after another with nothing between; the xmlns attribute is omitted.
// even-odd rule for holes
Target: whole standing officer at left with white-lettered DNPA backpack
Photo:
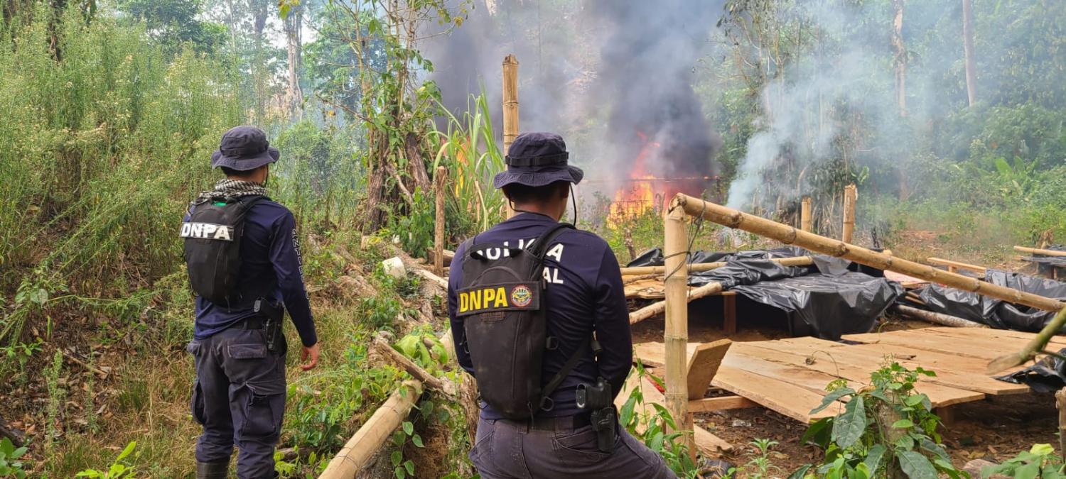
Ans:
<svg viewBox="0 0 1066 479"><path fill-rule="evenodd" d="M237 475L240 478L273 478L274 446L285 413L284 310L288 310L303 343L301 367L310 369L319 361L319 344L304 288L295 220L285 207L265 198L264 184L270 164L279 152L270 147L265 134L255 127L237 127L226 132L211 156L211 166L222 168L226 179L193 202L185 215L182 236L204 230L195 222L198 205L227 202L247 205L243 212L239 271L229 297L214 303L196 297L194 338L189 351L195 357L196 382L192 413L204 426L196 443L196 477L225 478L236 445ZM241 201L254 198L255 201ZM208 225L207 222L200 225ZM226 240L231 231L216 225L210 238ZM237 229L236 231L240 231ZM204 240L208 247L212 243ZM187 241L185 257L196 255L200 246ZM203 255L203 254L200 254ZM190 280L204 278L199 266L190 263ZM212 270L211 272L221 274ZM211 281L210 278L207 281ZM231 299L230 299L231 298ZM284 310L282 310L284 309Z"/></svg>

